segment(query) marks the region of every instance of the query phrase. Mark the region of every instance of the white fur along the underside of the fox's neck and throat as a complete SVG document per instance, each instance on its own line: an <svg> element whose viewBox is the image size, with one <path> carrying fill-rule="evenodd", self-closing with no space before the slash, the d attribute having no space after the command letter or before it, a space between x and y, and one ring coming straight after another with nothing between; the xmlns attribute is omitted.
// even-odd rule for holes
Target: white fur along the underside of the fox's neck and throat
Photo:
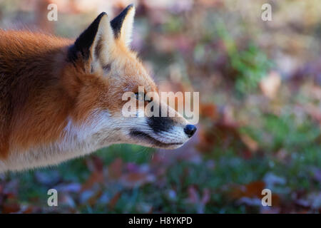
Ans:
<svg viewBox="0 0 321 228"><path fill-rule="evenodd" d="M82 125L74 125L72 120L68 120L61 140L28 151L12 149L6 160L0 160L0 172L57 165L73 157L86 155L112 144L114 127L108 112L94 112Z"/></svg>

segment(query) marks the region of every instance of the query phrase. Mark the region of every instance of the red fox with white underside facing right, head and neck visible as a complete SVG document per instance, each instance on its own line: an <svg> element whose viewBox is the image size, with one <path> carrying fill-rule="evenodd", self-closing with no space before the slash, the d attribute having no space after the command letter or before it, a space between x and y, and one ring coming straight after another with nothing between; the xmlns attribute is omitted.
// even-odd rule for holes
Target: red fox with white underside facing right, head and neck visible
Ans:
<svg viewBox="0 0 321 228"><path fill-rule="evenodd" d="M123 93L138 86L157 93L129 48L134 14L133 5L112 21L101 13L76 41L0 29L0 172L56 165L116 143L175 149L195 133L178 113L123 117Z"/></svg>

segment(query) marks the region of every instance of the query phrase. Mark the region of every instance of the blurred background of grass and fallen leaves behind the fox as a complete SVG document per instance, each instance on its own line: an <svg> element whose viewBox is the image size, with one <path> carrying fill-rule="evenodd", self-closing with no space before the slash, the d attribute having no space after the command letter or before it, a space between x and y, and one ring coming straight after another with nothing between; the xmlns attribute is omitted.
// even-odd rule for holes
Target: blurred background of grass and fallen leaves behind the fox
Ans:
<svg viewBox="0 0 321 228"><path fill-rule="evenodd" d="M132 48L161 90L200 92L197 135L173 151L113 145L1 174L0 212L321 212L320 1L0 0L0 28L76 38L131 3Z"/></svg>

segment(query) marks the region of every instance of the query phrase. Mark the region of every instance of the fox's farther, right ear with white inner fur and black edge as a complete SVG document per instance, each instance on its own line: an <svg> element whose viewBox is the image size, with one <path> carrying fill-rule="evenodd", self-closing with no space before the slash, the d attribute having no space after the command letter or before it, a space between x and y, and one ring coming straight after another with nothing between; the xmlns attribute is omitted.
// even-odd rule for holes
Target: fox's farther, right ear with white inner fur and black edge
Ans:
<svg viewBox="0 0 321 228"><path fill-rule="evenodd" d="M133 19L135 16L135 6L129 5L121 14L111 21L111 27L116 39L120 39L126 46L131 43L131 35L133 33Z"/></svg>

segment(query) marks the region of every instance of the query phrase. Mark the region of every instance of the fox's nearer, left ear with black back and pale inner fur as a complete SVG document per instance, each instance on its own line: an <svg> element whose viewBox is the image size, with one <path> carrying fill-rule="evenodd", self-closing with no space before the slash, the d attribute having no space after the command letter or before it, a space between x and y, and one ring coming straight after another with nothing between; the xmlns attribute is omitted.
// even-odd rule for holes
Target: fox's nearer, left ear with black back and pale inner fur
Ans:
<svg viewBox="0 0 321 228"><path fill-rule="evenodd" d="M113 29L106 13L101 13L76 39L68 50L68 59L72 62L83 58L93 71L96 66L106 60L106 51L113 46Z"/></svg>

